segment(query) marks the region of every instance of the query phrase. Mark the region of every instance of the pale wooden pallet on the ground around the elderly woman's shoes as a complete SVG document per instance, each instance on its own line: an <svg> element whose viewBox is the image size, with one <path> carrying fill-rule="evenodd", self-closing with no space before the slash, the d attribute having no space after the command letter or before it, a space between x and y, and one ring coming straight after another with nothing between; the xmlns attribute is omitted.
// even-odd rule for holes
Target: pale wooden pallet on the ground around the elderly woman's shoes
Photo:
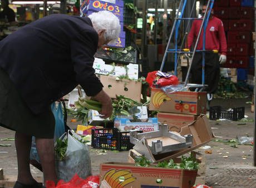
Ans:
<svg viewBox="0 0 256 188"><path fill-rule="evenodd" d="M42 177L34 177L37 182L42 182ZM13 187L17 181L17 176L3 175L3 169L0 169L0 187Z"/></svg>

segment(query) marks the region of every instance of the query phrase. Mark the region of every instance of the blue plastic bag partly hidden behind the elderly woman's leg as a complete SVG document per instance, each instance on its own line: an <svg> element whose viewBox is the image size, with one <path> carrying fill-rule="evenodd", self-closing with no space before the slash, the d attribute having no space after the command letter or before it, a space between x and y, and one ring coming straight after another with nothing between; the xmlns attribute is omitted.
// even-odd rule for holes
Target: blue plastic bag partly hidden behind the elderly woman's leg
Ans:
<svg viewBox="0 0 256 188"><path fill-rule="evenodd" d="M58 105L58 106L57 106ZM64 125L64 116L63 116L63 111L62 111L62 105L61 103L52 103L51 108L52 108L52 113L55 118L55 132L54 132L54 142L56 139L60 138L61 135L65 133L65 125ZM36 149L36 138L35 136L32 137L32 145L31 145L31 150L30 150L30 160L36 160L40 162L40 158L37 154L37 149Z"/></svg>

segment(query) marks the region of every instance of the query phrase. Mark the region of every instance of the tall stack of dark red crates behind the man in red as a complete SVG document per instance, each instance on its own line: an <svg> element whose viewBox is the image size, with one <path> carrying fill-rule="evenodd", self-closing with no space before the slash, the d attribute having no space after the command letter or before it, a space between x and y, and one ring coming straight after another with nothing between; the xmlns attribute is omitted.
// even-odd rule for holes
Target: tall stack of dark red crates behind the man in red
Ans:
<svg viewBox="0 0 256 188"><path fill-rule="evenodd" d="M247 78L249 68L254 69L254 0L216 0L214 14L223 21L227 34L227 62L223 67L238 68L238 81L242 81L239 79Z"/></svg>

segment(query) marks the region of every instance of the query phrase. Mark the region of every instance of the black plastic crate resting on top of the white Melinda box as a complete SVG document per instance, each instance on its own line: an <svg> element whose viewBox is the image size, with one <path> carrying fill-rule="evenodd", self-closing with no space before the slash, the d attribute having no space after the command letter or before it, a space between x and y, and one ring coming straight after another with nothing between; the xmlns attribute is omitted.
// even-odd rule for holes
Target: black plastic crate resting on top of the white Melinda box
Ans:
<svg viewBox="0 0 256 188"><path fill-rule="evenodd" d="M115 63L136 63L136 50L130 50L127 53L115 53L110 50L98 49L95 53L96 58L115 62Z"/></svg>

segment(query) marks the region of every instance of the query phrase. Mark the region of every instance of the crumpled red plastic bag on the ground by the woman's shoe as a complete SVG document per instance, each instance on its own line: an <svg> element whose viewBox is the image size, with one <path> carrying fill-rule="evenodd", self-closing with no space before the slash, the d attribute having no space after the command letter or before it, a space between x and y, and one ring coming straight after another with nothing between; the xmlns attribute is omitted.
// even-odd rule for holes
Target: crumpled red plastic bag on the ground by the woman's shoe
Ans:
<svg viewBox="0 0 256 188"><path fill-rule="evenodd" d="M46 182L46 188L96 188L99 187L99 185L99 176L88 176L86 179L82 179L77 174L68 182L63 180L58 181L56 186L53 181Z"/></svg>

